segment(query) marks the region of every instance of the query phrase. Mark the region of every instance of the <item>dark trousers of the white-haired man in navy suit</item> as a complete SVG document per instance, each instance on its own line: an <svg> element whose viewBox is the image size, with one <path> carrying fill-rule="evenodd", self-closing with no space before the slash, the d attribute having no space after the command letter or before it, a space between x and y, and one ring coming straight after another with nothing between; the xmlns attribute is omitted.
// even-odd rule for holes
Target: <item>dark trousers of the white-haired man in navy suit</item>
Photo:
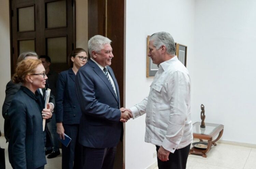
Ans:
<svg viewBox="0 0 256 169"><path fill-rule="evenodd" d="M116 147L90 148L83 146L83 169L113 169Z"/></svg>

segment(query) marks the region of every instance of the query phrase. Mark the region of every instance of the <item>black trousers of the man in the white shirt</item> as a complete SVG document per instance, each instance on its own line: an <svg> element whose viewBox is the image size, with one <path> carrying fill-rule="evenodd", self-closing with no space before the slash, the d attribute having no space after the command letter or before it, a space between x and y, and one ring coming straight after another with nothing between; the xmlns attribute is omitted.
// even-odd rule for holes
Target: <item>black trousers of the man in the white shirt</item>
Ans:
<svg viewBox="0 0 256 169"><path fill-rule="evenodd" d="M170 153L169 160L166 162L161 161L157 157L158 169L186 169L190 145L191 144L184 148L177 149L174 151L174 153ZM157 152L159 148L159 146L156 146Z"/></svg>

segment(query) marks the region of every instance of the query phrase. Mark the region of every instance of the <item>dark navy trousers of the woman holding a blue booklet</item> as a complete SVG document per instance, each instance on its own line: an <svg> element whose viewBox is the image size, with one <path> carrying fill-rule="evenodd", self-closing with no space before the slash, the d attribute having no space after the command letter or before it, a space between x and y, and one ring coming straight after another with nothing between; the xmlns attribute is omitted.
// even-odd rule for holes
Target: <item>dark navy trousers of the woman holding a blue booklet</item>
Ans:
<svg viewBox="0 0 256 169"><path fill-rule="evenodd" d="M65 134L71 138L68 147L62 146L62 169L82 168L82 145L78 141L79 125L63 124Z"/></svg>

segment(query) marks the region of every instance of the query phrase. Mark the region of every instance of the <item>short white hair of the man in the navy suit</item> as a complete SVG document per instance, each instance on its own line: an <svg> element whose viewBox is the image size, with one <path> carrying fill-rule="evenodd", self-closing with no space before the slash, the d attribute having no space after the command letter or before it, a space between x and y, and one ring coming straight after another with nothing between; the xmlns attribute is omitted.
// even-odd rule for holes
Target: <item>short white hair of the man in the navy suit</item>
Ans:
<svg viewBox="0 0 256 169"><path fill-rule="evenodd" d="M88 41L88 51L89 54L92 57L92 51L100 52L104 47L104 44L111 43L112 41L109 38L106 38L101 35L95 35L94 37L91 37Z"/></svg>

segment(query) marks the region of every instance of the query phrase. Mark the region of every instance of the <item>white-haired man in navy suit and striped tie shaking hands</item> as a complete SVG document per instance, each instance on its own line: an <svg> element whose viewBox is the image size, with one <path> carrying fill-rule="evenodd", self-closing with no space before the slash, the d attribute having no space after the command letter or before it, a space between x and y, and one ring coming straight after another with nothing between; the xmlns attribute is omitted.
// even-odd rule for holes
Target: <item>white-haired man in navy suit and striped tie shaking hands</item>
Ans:
<svg viewBox="0 0 256 169"><path fill-rule="evenodd" d="M109 67L111 40L96 35L88 41L91 59L76 74L75 88L82 117L79 143L83 146L84 169L112 169L116 145L123 138L123 124L131 114L120 109L119 89Z"/></svg>

